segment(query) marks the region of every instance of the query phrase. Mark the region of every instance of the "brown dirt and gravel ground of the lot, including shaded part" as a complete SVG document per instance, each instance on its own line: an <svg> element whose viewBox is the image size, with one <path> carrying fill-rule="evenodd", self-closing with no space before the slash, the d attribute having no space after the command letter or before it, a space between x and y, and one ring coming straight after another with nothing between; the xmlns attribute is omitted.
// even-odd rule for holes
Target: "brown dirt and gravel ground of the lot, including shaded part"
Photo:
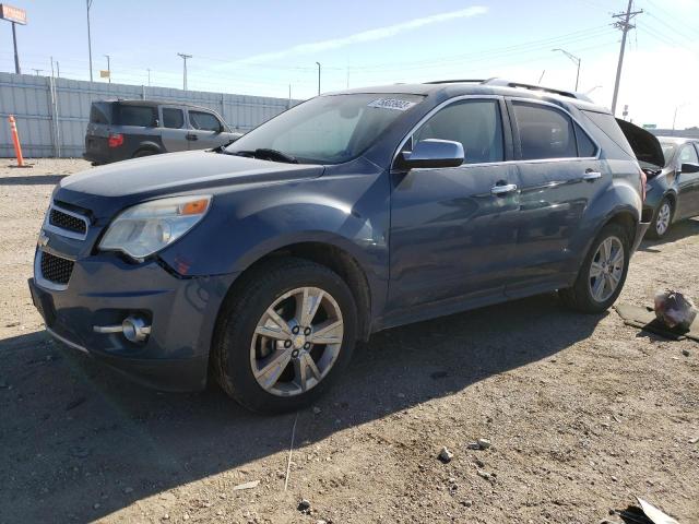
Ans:
<svg viewBox="0 0 699 524"><path fill-rule="evenodd" d="M589 524L618 522L609 510L635 496L699 522L699 346L554 295L376 335L319 410L298 414L284 491L294 415L251 415L213 388L144 390L48 340L26 288L34 245L54 184L88 165L8 164L0 523ZM621 300L665 286L699 299L698 234L690 221L645 242ZM469 450L477 438L493 446Z"/></svg>

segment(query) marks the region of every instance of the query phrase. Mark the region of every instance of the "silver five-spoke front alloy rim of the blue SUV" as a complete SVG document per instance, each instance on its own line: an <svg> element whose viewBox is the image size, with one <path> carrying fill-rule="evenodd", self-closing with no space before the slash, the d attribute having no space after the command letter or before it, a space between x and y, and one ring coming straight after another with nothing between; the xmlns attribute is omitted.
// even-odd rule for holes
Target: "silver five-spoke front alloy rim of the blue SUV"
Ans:
<svg viewBox="0 0 699 524"><path fill-rule="evenodd" d="M344 323L336 300L318 287L279 297L262 314L250 344L258 384L277 396L318 385L337 360Z"/></svg>

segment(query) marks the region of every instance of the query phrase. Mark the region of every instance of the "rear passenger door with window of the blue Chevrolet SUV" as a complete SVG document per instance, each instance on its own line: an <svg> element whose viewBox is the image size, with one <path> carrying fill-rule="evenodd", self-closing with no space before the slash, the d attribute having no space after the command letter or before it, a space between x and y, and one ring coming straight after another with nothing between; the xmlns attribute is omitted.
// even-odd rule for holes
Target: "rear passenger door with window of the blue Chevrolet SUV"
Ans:
<svg viewBox="0 0 699 524"><path fill-rule="evenodd" d="M532 99L508 102L519 169L518 264L507 295L517 297L569 281L583 213L612 175L599 147L572 116Z"/></svg>

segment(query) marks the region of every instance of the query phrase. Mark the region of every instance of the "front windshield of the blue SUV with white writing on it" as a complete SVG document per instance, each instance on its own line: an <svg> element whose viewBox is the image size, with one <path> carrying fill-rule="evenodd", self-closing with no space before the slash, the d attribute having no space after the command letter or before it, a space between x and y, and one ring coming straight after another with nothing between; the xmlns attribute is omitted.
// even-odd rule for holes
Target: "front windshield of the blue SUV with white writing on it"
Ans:
<svg viewBox="0 0 699 524"><path fill-rule="evenodd" d="M266 150L304 164L342 164L362 155L420 95L319 96L244 134L228 154Z"/></svg>

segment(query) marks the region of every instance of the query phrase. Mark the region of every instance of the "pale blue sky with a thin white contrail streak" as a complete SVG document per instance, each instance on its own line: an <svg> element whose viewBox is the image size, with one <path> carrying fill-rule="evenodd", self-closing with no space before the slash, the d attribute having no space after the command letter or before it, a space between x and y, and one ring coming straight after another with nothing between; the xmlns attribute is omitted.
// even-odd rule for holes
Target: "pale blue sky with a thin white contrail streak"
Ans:
<svg viewBox="0 0 699 524"><path fill-rule="evenodd" d="M87 80L86 2L13 0L24 73ZM627 0L93 0L93 71L112 82L304 99L321 91L445 79L506 78L579 90L609 107ZM618 111L638 124L699 126L699 0L633 0ZM0 21L0 71L14 71ZM57 69L58 69L57 68ZM676 117L675 117L676 115Z"/></svg>

